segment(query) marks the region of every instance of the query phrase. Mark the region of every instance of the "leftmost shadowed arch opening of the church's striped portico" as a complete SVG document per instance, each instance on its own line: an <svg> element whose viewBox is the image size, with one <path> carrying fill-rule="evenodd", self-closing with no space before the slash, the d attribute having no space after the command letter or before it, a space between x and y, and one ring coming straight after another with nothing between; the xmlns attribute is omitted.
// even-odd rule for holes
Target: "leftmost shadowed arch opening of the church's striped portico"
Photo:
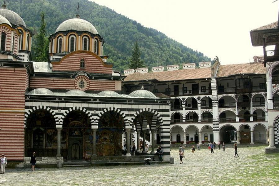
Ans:
<svg viewBox="0 0 279 186"><path fill-rule="evenodd" d="M47 110L36 110L26 120L24 155L30 157L55 157L57 154L57 130L55 118Z"/></svg>

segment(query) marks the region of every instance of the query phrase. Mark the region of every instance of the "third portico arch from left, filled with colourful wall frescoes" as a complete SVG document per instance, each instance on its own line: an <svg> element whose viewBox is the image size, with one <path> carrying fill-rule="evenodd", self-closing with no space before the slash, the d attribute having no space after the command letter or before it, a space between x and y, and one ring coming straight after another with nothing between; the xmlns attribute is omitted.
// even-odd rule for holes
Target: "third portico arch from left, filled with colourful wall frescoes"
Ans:
<svg viewBox="0 0 279 186"><path fill-rule="evenodd" d="M97 156L122 156L124 119L115 111L105 112L96 133Z"/></svg>

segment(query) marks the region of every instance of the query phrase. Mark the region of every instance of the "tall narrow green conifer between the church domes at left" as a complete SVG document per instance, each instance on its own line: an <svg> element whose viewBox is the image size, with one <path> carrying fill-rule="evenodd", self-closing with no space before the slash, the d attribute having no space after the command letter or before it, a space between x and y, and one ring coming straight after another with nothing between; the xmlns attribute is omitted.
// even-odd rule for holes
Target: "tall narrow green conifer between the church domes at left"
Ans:
<svg viewBox="0 0 279 186"><path fill-rule="evenodd" d="M45 22L45 14L44 12L41 13L41 27L38 35L36 36L36 46L35 46L35 60L36 61L48 61L48 39L46 37L47 29L46 29L46 22Z"/></svg>

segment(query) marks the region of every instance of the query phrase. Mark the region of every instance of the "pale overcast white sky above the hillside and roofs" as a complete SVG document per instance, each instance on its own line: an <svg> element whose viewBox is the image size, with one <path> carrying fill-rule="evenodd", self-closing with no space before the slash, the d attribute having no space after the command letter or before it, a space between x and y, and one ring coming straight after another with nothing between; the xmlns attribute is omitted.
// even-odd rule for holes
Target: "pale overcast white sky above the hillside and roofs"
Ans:
<svg viewBox="0 0 279 186"><path fill-rule="evenodd" d="M247 63L263 55L250 31L277 21L275 0L91 0L157 29L221 64ZM94 23L93 23L94 24Z"/></svg>

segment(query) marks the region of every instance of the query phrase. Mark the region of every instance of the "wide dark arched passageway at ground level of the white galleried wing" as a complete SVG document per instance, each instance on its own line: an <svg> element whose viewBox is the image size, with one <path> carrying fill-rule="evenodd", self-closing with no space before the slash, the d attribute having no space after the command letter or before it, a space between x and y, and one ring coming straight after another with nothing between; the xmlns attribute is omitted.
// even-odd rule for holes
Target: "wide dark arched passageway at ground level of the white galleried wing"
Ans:
<svg viewBox="0 0 279 186"><path fill-rule="evenodd" d="M236 128L230 125L222 126L219 129L220 132L220 142L231 143L237 142L237 132Z"/></svg>

